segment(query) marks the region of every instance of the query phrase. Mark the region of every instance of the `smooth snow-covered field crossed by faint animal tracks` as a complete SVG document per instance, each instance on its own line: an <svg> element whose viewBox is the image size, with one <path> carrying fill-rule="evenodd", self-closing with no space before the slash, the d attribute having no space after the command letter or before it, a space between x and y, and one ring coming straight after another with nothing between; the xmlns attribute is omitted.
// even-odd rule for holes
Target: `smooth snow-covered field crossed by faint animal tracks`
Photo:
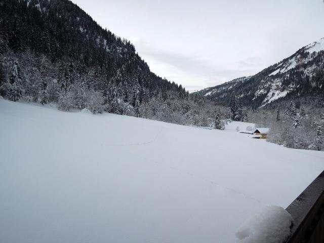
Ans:
<svg viewBox="0 0 324 243"><path fill-rule="evenodd" d="M286 208L324 153L206 130L0 100L2 242L235 242Z"/></svg>

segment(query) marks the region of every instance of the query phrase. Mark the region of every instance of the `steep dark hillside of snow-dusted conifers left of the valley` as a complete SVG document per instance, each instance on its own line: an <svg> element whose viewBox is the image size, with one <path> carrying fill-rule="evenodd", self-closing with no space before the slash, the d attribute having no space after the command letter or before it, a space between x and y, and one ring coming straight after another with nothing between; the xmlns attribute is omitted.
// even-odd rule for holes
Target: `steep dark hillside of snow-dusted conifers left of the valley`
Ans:
<svg viewBox="0 0 324 243"><path fill-rule="evenodd" d="M152 98L188 98L68 0L0 0L0 50L0 92L9 100L140 116Z"/></svg>

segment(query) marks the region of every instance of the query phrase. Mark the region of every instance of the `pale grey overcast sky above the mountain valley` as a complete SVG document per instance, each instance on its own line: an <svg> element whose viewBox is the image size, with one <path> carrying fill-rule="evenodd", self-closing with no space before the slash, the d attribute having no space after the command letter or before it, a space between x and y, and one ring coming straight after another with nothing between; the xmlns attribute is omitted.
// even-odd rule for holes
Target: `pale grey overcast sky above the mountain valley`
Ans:
<svg viewBox="0 0 324 243"><path fill-rule="evenodd" d="M323 0L72 0L161 77L200 90L324 37Z"/></svg>

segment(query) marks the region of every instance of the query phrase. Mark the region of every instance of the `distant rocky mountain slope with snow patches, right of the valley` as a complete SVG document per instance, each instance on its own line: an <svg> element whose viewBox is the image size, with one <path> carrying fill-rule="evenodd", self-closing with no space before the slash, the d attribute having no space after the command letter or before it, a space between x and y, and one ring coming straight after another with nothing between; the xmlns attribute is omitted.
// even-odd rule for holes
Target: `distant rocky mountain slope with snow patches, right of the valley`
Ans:
<svg viewBox="0 0 324 243"><path fill-rule="evenodd" d="M285 97L318 96L324 104L324 38L254 76L237 78L198 93L218 103L238 96L244 105L253 108Z"/></svg>

